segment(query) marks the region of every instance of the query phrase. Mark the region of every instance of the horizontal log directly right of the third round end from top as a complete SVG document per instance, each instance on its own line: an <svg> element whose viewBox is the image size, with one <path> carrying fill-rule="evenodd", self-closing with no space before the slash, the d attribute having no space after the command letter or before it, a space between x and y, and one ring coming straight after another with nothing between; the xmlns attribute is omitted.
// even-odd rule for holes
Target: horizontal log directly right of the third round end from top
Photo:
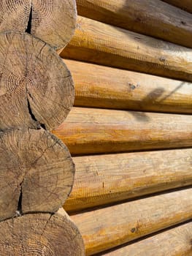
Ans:
<svg viewBox="0 0 192 256"><path fill-rule="evenodd" d="M166 155L166 157L165 157ZM74 157L66 211L192 185L192 149Z"/></svg>

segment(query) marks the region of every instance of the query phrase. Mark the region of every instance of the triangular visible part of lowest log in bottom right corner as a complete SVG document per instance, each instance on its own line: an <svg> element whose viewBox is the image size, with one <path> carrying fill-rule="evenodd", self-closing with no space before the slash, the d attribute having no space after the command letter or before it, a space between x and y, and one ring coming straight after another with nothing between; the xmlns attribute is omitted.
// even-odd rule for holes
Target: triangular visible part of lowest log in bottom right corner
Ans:
<svg viewBox="0 0 192 256"><path fill-rule="evenodd" d="M175 227L150 238L102 253L108 256L191 256L192 223Z"/></svg>

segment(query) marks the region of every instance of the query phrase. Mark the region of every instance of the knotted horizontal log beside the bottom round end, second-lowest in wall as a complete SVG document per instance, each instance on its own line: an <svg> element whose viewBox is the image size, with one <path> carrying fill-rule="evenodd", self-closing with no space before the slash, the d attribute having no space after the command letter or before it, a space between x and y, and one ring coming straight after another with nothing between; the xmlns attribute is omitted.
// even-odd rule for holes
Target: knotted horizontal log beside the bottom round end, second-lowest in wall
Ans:
<svg viewBox="0 0 192 256"><path fill-rule="evenodd" d="M192 189L77 214L86 255L133 241L192 218Z"/></svg>

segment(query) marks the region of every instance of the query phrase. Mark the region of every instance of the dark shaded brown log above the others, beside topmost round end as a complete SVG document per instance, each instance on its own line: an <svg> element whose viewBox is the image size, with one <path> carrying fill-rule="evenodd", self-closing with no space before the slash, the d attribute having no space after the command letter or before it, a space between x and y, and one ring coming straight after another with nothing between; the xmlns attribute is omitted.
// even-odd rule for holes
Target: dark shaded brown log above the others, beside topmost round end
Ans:
<svg viewBox="0 0 192 256"><path fill-rule="evenodd" d="M183 6L183 1L177 1ZM192 15L159 0L77 0L77 11L93 20L192 47Z"/></svg>

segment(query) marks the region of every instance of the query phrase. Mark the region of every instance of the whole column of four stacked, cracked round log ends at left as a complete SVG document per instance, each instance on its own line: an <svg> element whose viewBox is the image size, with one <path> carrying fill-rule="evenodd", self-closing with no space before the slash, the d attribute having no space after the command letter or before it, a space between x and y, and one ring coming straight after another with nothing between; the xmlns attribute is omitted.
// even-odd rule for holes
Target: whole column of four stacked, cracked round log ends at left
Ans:
<svg viewBox="0 0 192 256"><path fill-rule="evenodd" d="M76 9L73 0L58 2L1 3L1 255L84 255L80 231L62 208L74 163L50 133L74 102L72 75L53 48L72 37Z"/></svg>

